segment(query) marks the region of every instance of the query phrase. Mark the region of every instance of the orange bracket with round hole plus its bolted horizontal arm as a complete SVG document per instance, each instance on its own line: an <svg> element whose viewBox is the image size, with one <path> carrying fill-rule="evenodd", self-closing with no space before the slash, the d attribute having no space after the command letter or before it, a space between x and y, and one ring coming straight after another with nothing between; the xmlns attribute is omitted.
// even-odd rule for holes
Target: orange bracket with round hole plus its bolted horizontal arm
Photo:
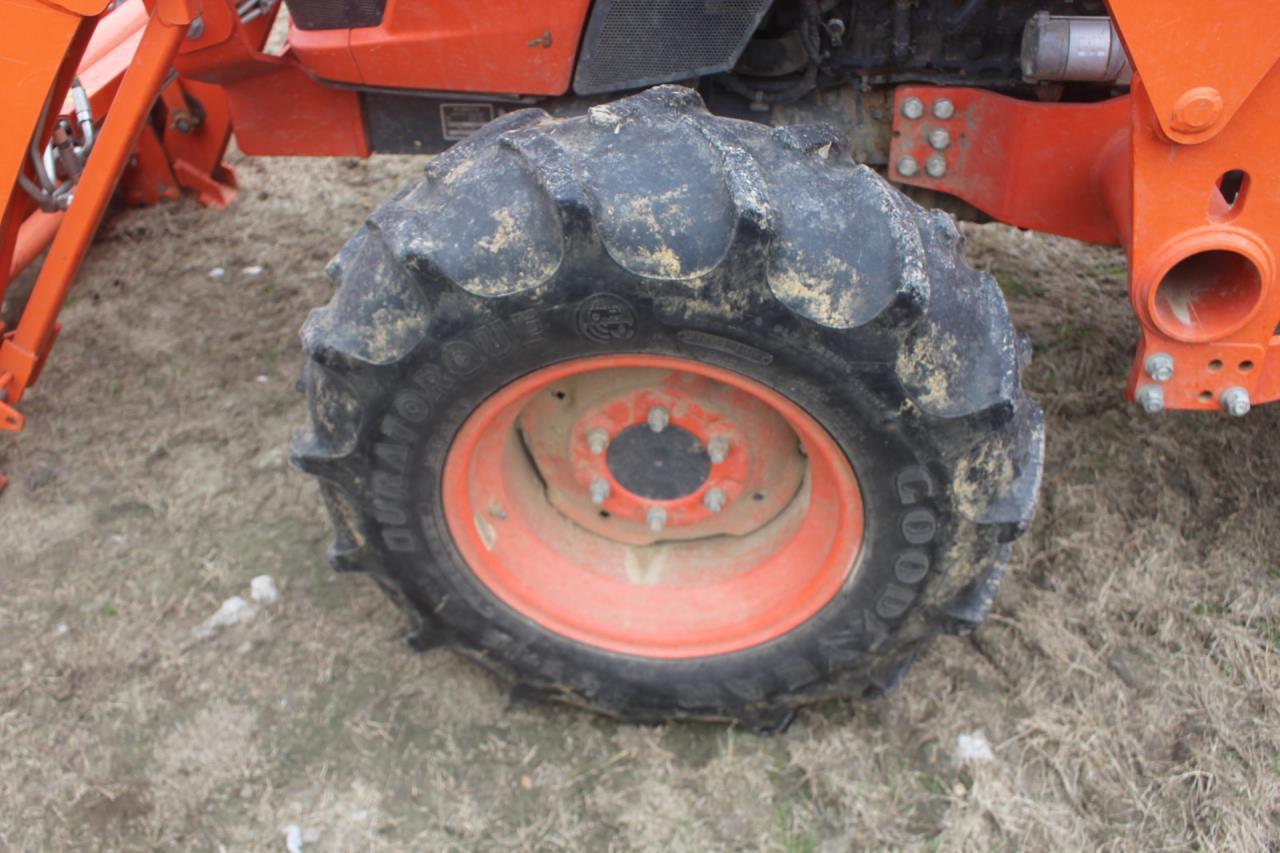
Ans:
<svg viewBox="0 0 1280 853"><path fill-rule="evenodd" d="M919 118L904 114L908 99L923 102L906 110ZM1153 386L1167 409L1220 410L1231 389L1267 402L1280 398L1280 195L1267 191L1280 183L1277 109L1280 67L1197 145L1166 138L1139 78L1100 104L901 87L891 177L1023 228L1123 245L1142 325L1130 397ZM1152 375L1157 353L1171 375Z"/></svg>

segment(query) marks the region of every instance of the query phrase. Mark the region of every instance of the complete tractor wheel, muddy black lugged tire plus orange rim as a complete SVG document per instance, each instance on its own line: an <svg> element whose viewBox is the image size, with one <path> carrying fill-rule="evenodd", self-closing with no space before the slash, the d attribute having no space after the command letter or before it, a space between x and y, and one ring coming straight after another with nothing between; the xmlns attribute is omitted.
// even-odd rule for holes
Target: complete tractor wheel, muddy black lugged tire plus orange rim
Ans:
<svg viewBox="0 0 1280 853"><path fill-rule="evenodd" d="M329 272L292 455L329 560L512 698L777 730L879 695L1030 521L1000 289L829 128L676 86L511 113Z"/></svg>

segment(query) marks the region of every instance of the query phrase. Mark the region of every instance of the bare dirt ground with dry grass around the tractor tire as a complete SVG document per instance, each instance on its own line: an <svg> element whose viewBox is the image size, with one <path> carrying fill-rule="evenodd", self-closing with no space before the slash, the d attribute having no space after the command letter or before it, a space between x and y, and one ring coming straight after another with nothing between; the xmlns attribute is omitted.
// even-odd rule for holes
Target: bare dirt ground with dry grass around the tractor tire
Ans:
<svg viewBox="0 0 1280 853"><path fill-rule="evenodd" d="M110 218L0 439L0 849L1280 849L1280 409L1126 405L1117 252L966 228L1050 421L974 638L782 736L632 727L507 708L324 565L296 330L421 161L234 165L225 213ZM192 637L264 573L276 605Z"/></svg>

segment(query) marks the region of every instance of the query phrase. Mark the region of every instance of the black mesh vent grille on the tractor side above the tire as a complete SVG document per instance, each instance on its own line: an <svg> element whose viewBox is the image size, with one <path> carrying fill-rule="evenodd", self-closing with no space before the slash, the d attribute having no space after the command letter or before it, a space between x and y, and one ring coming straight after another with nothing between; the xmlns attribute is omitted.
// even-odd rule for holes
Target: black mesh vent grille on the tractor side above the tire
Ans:
<svg viewBox="0 0 1280 853"><path fill-rule="evenodd" d="M573 91L595 95L733 68L772 0L598 0Z"/></svg>

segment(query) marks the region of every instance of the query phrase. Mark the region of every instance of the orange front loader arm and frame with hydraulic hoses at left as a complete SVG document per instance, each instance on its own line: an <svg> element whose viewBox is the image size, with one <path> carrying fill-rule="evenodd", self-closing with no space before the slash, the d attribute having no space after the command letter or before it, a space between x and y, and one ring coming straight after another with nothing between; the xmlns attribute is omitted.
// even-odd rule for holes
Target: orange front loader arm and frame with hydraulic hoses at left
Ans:
<svg viewBox="0 0 1280 853"><path fill-rule="evenodd" d="M0 0L0 88L13 93L0 115L0 296L49 246L17 328L0 324L0 430L23 428L15 403L40 377L118 186L133 204L188 188L225 206L236 193L221 164L233 117L247 152L369 154L355 92L316 83L292 54L262 53L278 3L255 14L239 5ZM92 117L104 114L96 129ZM63 159L77 146L83 163Z"/></svg>

